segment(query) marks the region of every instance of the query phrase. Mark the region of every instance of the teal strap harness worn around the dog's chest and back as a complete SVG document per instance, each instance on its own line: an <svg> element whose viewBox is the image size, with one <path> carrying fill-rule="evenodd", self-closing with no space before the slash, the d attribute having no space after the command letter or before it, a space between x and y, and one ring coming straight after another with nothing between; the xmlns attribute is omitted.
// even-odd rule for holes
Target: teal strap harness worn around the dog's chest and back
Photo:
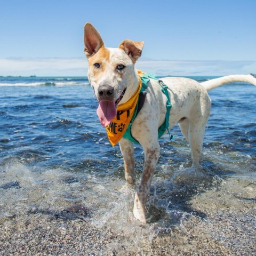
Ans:
<svg viewBox="0 0 256 256"><path fill-rule="evenodd" d="M141 76L141 83L142 83L142 86L141 86L141 89L140 89L140 92L145 92L147 87L148 87L148 82L149 82L149 78L152 78L152 79L155 79L159 82L159 85L161 86L161 89L162 89L162 92L165 94L166 98L167 98L167 102L166 102L166 114L165 114L165 121L164 123L159 127L158 129L158 139L161 138L163 136L163 134L165 133L165 131L167 130L167 132L169 133L169 115L170 115L170 110L172 108L172 105L171 105L171 100L170 100L170 97L169 97L169 94L168 94L168 86L165 85L163 83L163 81L161 80L158 80L154 75L151 75L151 74L143 74ZM138 99L138 102L139 102L139 99ZM139 141L135 140L133 137L132 137L132 132L131 132L131 127L132 127L132 124L133 124L133 121L134 119L137 117L137 110L138 110L138 102L137 102L137 105L135 107L135 110L134 110L134 113L133 113L133 116L132 116L132 119L131 119L131 122L129 123L124 135L123 135L123 138L125 139L128 139L132 142L135 142L135 143L139 143ZM173 138L173 135L170 135L169 133L169 136L170 136L170 140Z"/></svg>

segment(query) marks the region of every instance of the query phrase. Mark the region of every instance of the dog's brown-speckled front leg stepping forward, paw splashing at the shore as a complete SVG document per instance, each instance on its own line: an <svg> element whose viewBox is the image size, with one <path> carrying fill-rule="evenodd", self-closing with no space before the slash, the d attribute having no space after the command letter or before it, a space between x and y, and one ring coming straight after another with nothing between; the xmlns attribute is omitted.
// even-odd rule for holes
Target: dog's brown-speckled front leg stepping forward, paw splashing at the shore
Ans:
<svg viewBox="0 0 256 256"><path fill-rule="evenodd" d="M145 163L140 185L135 193L133 214L136 219L140 220L142 223L146 223L145 206L148 199L151 179L160 154L160 146L157 141L154 144L143 147L143 149L145 152Z"/></svg>

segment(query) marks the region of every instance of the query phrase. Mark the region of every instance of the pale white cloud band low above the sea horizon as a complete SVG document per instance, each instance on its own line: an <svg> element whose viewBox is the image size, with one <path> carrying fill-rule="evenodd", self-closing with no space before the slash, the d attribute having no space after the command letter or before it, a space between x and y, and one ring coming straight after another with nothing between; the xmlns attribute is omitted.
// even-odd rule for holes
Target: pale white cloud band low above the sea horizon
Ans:
<svg viewBox="0 0 256 256"><path fill-rule="evenodd" d="M256 73L256 61L149 60L140 59L138 69L158 76L214 76ZM2 76L86 76L86 58L0 59Z"/></svg>

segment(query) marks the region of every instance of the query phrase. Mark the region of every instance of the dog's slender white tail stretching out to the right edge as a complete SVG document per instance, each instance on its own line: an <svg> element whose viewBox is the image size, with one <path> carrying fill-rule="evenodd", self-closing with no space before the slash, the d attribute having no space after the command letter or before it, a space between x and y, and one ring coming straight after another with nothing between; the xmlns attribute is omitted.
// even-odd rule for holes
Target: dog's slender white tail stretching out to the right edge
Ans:
<svg viewBox="0 0 256 256"><path fill-rule="evenodd" d="M220 78L215 78L206 82L202 82L201 84L206 88L207 91L211 91L212 89L217 88L223 84L232 82L245 82L256 85L256 75L250 74L223 76Z"/></svg>

